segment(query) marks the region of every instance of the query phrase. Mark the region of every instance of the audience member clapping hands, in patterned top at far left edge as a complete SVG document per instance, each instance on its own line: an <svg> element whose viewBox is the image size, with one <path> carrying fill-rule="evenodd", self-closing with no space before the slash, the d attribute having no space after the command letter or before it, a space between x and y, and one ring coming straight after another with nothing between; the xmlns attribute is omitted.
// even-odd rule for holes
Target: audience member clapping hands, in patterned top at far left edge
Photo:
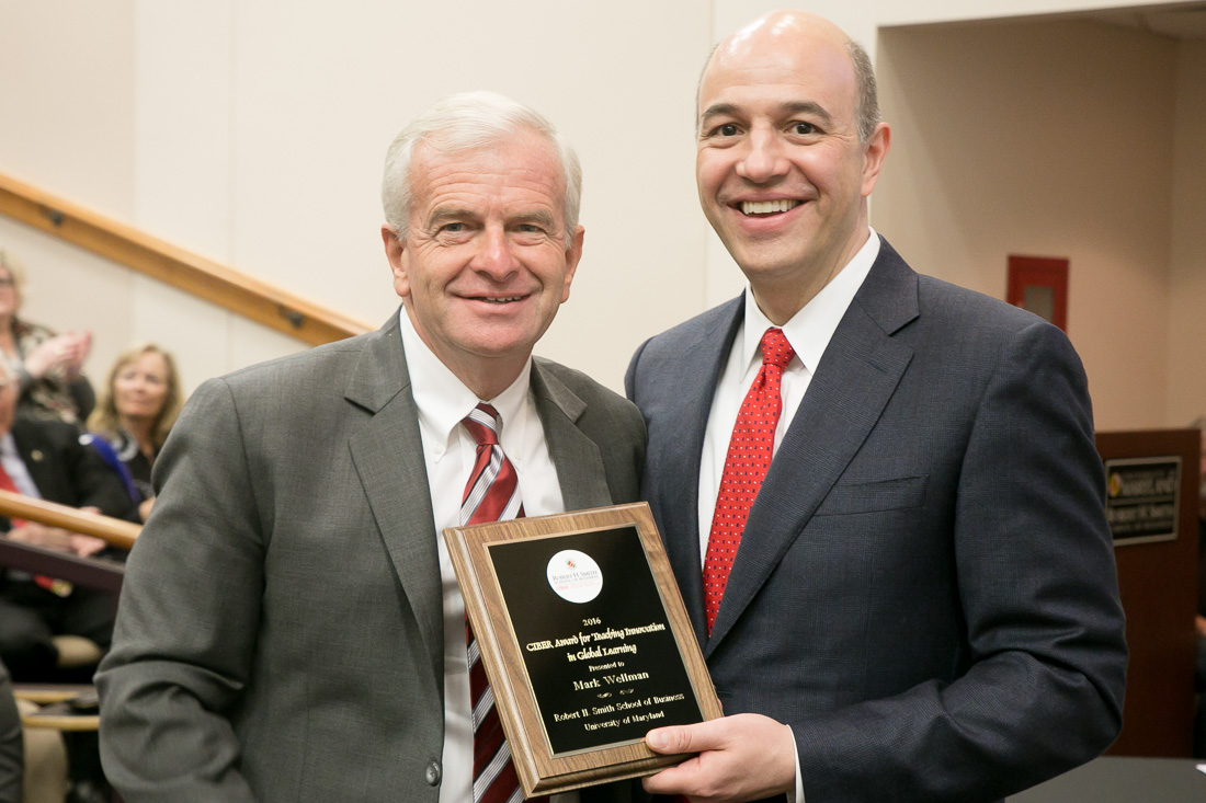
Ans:
<svg viewBox="0 0 1206 803"><path fill-rule="evenodd" d="M0 251L0 363L19 382L17 411L23 417L64 421L82 428L96 402L80 371L92 350L92 333L54 334L17 316L25 271Z"/></svg>

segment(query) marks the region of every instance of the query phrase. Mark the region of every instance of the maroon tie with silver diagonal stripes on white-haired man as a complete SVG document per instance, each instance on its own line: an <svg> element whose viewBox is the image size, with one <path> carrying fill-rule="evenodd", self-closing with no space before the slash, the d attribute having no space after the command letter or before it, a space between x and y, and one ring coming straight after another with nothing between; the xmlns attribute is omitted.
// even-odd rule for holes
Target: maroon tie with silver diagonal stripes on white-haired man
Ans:
<svg viewBox="0 0 1206 803"><path fill-rule="evenodd" d="M523 516L519 476L498 445L498 412L488 404L479 404L461 423L478 441L478 458L461 500L461 523L480 524ZM469 647L469 699L473 702L473 803L522 801L511 750L494 708L494 693L468 620L464 637Z"/></svg>

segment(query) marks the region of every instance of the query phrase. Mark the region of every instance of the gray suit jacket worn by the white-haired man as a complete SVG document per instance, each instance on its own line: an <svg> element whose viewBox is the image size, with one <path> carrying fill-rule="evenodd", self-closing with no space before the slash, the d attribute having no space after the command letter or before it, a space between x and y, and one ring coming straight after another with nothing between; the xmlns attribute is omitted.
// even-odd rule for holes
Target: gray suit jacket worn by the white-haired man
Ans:
<svg viewBox="0 0 1206 803"><path fill-rule="evenodd" d="M533 365L567 509L637 498L637 410ZM444 739L437 533L397 316L211 380L156 465L100 667L125 801L428 801Z"/></svg>

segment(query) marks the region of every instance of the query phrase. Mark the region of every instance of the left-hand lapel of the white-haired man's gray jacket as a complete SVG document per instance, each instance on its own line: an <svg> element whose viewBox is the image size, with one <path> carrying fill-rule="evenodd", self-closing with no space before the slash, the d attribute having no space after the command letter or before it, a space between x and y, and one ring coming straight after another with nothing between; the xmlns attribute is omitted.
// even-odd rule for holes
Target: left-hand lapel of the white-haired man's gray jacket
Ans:
<svg viewBox="0 0 1206 803"><path fill-rule="evenodd" d="M410 392L397 316L365 347L349 402L373 412L352 436L352 462L402 590L444 687L444 603L435 521L423 462L418 409Z"/></svg>

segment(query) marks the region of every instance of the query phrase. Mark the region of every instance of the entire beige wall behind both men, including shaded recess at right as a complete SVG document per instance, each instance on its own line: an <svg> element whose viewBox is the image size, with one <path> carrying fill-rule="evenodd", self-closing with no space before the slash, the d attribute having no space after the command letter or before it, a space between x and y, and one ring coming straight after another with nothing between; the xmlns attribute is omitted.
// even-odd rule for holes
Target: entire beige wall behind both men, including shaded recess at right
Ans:
<svg viewBox="0 0 1206 803"><path fill-rule="evenodd" d="M0 0L0 171L375 323L397 304L376 234L386 145L446 93L510 94L562 127L586 172L586 256L538 351L619 387L640 340L742 286L695 199L693 89L712 43L775 5L468 0L450 16L414 1L336 10ZM882 27L1105 5L818 0L809 8L873 43ZM1000 94L953 90L983 112L970 123L976 136L924 124L918 105L941 98L890 107L896 141L873 222L923 270L994 295L1003 293L1005 253L1072 257L1070 327L1099 422L1181 423L1206 406L1200 348L1187 345L1204 341L1206 320L1193 224L1206 181L1193 145L1202 55L1134 31L1060 24L968 27L955 37L962 46L936 36L944 58ZM949 77L943 61L902 39L884 35L885 83ZM1020 72L1002 81L989 65ZM1119 94L1100 90L1106 76L1122 82ZM1076 112L1040 107L1036 93L1062 93ZM967 140L1000 147L977 158ZM1054 200L1075 217L1044 212ZM1001 225L1009 216L1014 225ZM30 318L96 332L94 377L135 338L177 351L189 387L299 347L10 221L0 219L0 247L34 272Z"/></svg>

